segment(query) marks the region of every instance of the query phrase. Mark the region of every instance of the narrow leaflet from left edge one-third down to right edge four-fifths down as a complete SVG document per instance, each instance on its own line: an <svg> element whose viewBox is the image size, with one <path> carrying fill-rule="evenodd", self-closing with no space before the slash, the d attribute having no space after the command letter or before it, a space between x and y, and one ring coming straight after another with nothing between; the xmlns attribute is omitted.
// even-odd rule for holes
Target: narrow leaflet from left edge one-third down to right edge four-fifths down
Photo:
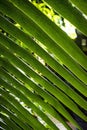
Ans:
<svg viewBox="0 0 87 130"><path fill-rule="evenodd" d="M71 89L69 86L67 86L62 80L57 78L56 75L51 73L48 69L46 69L40 62L38 62L32 55L29 54L26 50L19 47L14 42L10 41L8 38L3 38L5 41L2 42L2 45L7 46L12 53L16 53L24 60L31 64L32 67L34 67L36 70L41 72L45 77L47 77L50 81L52 81L55 85L57 85L62 91L64 91L69 97L71 97L76 103L78 103L81 107L87 110L87 102L79 96L73 89ZM8 43L7 43L8 41ZM7 44L6 44L7 43ZM12 45L12 46L11 46Z"/></svg>

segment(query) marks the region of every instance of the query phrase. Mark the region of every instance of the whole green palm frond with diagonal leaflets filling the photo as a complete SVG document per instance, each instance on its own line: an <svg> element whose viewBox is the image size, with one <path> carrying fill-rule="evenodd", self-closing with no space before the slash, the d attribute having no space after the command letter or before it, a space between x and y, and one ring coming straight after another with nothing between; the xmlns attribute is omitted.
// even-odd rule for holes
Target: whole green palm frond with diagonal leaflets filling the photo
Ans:
<svg viewBox="0 0 87 130"><path fill-rule="evenodd" d="M72 2L85 13L78 2ZM47 0L46 3L87 35L87 20L68 0ZM66 121L81 129L68 110L87 122L86 115L80 110L87 111L86 55L30 1L1 0L0 11L0 27L10 35L0 33L1 127L57 130L59 128L53 117L67 130L71 128ZM23 30L18 29L9 18Z"/></svg>

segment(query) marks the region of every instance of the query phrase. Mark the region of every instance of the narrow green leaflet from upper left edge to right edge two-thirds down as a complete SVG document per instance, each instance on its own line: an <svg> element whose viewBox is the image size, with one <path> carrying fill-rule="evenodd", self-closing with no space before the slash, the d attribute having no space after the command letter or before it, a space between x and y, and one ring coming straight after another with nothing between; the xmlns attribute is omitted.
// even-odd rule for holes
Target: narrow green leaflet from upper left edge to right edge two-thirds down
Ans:
<svg viewBox="0 0 87 130"><path fill-rule="evenodd" d="M23 33L21 30L17 29L15 26L13 26L8 21L5 21L4 18L0 17L0 25L4 29L6 29L7 32L9 32L11 35L17 37L21 41L24 42L24 44L27 45L29 49L40 55L46 63L48 63L56 72L58 72L61 76L63 76L68 82L70 82L78 91L80 91L82 94L84 94L87 97L87 86L85 86L82 82L80 82L77 78L75 78L74 75L69 73L66 69L64 69L63 66L61 66L55 59L53 59L46 51L44 51L38 44L36 44L27 34ZM3 26L3 23L5 23ZM10 29L11 28L11 29ZM13 31L14 30L14 31ZM6 39L3 35L0 34L0 39L2 42ZM8 40L6 40L8 41ZM7 43L7 42L5 42ZM5 44L4 43L4 44ZM11 48L11 45L8 46ZM14 47L11 48L13 50ZM16 49L15 49L16 50ZM38 50L38 51L37 51Z"/></svg>

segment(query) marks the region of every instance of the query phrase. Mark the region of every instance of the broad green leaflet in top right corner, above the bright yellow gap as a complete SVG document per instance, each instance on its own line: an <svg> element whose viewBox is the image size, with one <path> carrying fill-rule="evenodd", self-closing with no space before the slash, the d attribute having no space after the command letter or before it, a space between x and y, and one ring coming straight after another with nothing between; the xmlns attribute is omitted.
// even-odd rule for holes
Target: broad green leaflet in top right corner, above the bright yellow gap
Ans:
<svg viewBox="0 0 87 130"><path fill-rule="evenodd" d="M70 1L75 1L74 3L79 3L79 5L82 6L82 8L84 9L85 7L87 7L85 1L82 2L82 4L85 4L84 6L79 2L81 0L45 0L45 2L53 7L53 9L58 14L61 14L64 18L66 18L74 26L76 26L78 30L87 35L87 28L85 28L85 26L87 26L87 20L84 18L81 12L70 3Z"/></svg>

